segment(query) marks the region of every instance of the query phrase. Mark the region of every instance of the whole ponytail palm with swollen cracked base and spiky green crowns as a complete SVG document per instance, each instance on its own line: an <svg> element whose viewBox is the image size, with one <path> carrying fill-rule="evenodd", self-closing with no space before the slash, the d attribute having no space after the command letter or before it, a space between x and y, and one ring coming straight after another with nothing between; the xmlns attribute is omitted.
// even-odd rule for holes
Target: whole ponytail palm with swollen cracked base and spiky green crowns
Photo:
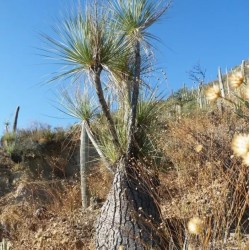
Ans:
<svg viewBox="0 0 250 250"><path fill-rule="evenodd" d="M139 154L145 153L137 150L141 145L153 149L153 141L148 136L151 130L144 122L154 125L149 120L154 118L157 106L142 103L138 111L137 106L142 70L149 61L145 59L151 55L149 39L153 36L147 29L169 4L153 0L110 0L109 3L104 10L95 5L93 10L88 8L85 15L78 12L76 17L65 20L57 32L59 39L46 36L52 45L49 52L65 66L52 80L86 76L95 88L102 109L100 120L103 116L106 119L106 123L101 124L102 131L109 130L109 133L100 133L100 129L97 139L105 156L110 154L109 147L112 149L109 158L113 158L116 172L96 223L96 249L122 246L164 249L166 245L159 229L160 210L156 193L152 193L149 166L137 161ZM109 81L109 85L105 81ZM111 96L116 95L115 114L104 95L111 89L110 85L115 90Z"/></svg>

